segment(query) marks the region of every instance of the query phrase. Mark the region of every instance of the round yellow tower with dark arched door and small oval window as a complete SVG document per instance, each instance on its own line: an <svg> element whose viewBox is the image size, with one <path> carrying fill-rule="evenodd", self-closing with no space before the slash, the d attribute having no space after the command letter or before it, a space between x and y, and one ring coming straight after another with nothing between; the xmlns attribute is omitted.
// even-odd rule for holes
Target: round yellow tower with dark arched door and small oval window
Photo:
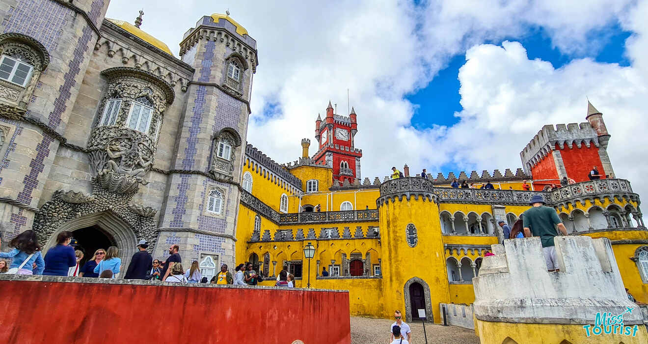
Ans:
<svg viewBox="0 0 648 344"><path fill-rule="evenodd" d="M382 289L390 291L384 294L385 315L400 310L411 321L424 309L428 321L439 322L439 302L448 302L450 293L432 183L423 178L388 180L380 186L377 203Z"/></svg>

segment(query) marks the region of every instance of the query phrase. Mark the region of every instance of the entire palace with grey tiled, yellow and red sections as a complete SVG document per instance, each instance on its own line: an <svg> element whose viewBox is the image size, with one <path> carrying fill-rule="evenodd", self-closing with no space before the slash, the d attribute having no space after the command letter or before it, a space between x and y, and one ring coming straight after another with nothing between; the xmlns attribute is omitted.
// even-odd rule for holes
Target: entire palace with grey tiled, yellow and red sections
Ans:
<svg viewBox="0 0 648 344"><path fill-rule="evenodd" d="M623 284L648 302L639 196L615 177L592 104L584 123L543 127L515 172L363 178L362 112L330 103L316 153L305 138L301 157L278 164L247 143L257 43L229 14L199 18L176 58L143 31L143 12L135 25L104 18L108 0L0 3L3 247L33 229L47 249L71 230L86 258L119 247L125 269L139 240L155 258L177 244L204 276L249 261L272 286L287 265L298 287L349 290L352 315L400 309L411 321L424 308L438 323L439 304L475 301L472 278L503 240L497 221L512 225L540 193L572 235L611 241ZM594 165L605 177L588 179ZM542 191L562 177L575 184ZM454 178L494 190L450 188Z"/></svg>

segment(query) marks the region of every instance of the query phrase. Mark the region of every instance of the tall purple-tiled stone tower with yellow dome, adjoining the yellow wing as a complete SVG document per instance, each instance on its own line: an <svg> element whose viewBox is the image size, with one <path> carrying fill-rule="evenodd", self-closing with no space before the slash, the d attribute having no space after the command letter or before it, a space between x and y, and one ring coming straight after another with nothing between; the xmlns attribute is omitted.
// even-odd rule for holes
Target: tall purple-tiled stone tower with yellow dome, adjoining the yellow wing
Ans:
<svg viewBox="0 0 648 344"><path fill-rule="evenodd" d="M156 256L178 244L191 254L216 252L217 264L233 266L257 42L228 15L212 14L185 32L180 55L195 72L179 119Z"/></svg>

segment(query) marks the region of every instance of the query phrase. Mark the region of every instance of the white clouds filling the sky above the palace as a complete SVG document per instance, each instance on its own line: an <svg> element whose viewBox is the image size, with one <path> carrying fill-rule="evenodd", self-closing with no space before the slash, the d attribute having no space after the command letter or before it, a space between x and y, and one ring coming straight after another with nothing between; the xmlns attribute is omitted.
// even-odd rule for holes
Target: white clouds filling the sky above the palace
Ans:
<svg viewBox="0 0 648 344"><path fill-rule="evenodd" d="M356 146L363 149L363 177L389 173L409 164L435 172L447 163L470 169L520 166L519 151L545 124L584 121L588 95L604 113L610 157L619 177L635 180L645 149L648 15L646 1L225 1L205 10L203 3L111 1L108 16L134 19L145 8L142 29L173 51L182 34L211 12L224 12L244 25L258 42L248 140L277 162L295 160L301 138L314 142L314 120L330 100L346 113L347 88L358 113ZM483 45L520 37L543 27L551 42L572 56L594 56L601 42L592 32L620 21L636 32L629 40L632 67L573 60L561 69L529 60L519 43ZM172 24L172 25L170 25ZM472 47L472 48L471 48ZM448 59L466 54L461 69L459 123L417 130L410 125L412 105L405 95L426 86ZM279 113L264 118L268 104ZM430 116L433 108L421 108ZM645 145L643 145L645 146ZM311 153L314 153L311 147ZM641 155L643 154L643 155ZM637 166L637 165L640 166ZM648 191L648 190L643 190Z"/></svg>

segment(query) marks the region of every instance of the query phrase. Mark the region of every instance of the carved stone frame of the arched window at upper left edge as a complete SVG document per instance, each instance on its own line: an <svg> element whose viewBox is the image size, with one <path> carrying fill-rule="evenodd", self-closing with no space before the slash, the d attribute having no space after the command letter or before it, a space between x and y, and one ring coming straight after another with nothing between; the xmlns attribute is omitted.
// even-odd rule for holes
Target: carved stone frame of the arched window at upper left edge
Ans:
<svg viewBox="0 0 648 344"><path fill-rule="evenodd" d="M0 80L0 99L19 108L27 108L40 75L47 69L50 56L38 40L17 32L0 34L0 56L8 56L32 66L23 85Z"/></svg>

